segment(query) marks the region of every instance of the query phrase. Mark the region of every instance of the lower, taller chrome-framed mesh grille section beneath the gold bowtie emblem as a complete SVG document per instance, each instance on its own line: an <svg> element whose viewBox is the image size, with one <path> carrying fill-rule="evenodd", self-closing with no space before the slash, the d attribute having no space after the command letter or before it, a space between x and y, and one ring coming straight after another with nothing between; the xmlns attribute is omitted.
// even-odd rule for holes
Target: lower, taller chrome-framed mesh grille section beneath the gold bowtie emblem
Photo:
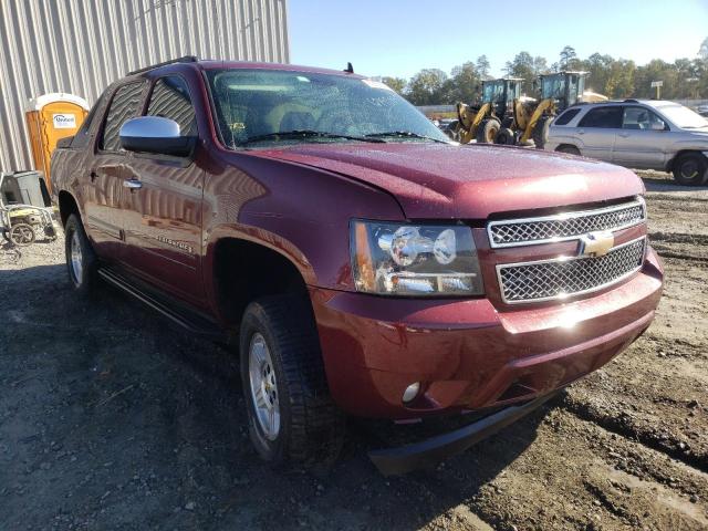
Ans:
<svg viewBox="0 0 708 531"><path fill-rule="evenodd" d="M638 271L646 238L612 249L604 257L556 258L497 266L504 302L540 302L606 288Z"/></svg>

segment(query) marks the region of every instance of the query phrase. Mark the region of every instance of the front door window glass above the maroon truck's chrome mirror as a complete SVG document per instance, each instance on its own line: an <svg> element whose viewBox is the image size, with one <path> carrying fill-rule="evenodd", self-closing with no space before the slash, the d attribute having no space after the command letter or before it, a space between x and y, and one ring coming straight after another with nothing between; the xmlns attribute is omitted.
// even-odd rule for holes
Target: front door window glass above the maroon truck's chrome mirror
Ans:
<svg viewBox="0 0 708 531"><path fill-rule="evenodd" d="M174 119L179 124L181 136L197 135L197 121L195 107L189 97L189 88L185 80L178 75L157 80L150 94L147 115Z"/></svg>

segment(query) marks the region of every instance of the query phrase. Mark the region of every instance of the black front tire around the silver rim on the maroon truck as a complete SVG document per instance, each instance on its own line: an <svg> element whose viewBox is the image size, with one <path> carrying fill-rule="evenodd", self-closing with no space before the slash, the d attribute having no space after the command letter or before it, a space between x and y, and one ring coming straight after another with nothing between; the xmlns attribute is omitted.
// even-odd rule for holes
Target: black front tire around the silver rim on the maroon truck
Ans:
<svg viewBox="0 0 708 531"><path fill-rule="evenodd" d="M272 361L280 414L279 429L270 437L258 418L249 371L251 344L261 339ZM310 301L278 295L252 302L239 343L249 434L258 454L272 465L329 468L342 449L345 417L330 396Z"/></svg>

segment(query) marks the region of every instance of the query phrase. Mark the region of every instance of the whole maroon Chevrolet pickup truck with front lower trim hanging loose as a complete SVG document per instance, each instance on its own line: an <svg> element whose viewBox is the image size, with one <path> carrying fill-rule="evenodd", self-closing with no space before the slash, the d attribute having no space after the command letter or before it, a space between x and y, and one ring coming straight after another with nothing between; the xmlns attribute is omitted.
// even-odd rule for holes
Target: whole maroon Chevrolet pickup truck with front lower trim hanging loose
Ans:
<svg viewBox="0 0 708 531"><path fill-rule="evenodd" d="M622 352L662 293L633 173L459 146L350 71L133 72L52 174L73 289L106 280L236 345L274 462L331 461L345 414L475 413L372 451L385 473L461 451Z"/></svg>

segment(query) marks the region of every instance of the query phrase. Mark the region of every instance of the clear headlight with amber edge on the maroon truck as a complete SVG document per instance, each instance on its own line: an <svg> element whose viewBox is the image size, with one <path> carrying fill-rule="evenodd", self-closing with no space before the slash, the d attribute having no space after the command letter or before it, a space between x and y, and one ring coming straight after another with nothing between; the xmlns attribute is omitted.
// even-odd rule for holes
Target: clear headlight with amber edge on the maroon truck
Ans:
<svg viewBox="0 0 708 531"><path fill-rule="evenodd" d="M354 220L351 230L357 291L428 296L485 293L469 227Z"/></svg>

